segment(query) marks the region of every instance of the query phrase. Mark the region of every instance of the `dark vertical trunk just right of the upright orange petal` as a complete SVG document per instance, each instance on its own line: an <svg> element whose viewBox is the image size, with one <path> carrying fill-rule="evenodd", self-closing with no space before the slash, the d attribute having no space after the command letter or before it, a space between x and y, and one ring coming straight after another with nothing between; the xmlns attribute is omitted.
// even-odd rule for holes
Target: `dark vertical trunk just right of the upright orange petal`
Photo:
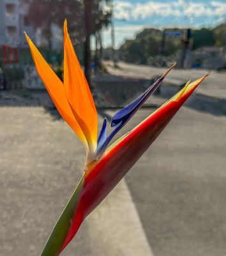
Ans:
<svg viewBox="0 0 226 256"><path fill-rule="evenodd" d="M85 28L86 28L84 67L85 67L86 80L89 86L91 86L91 51L90 51L91 7L92 7L92 0L84 0L84 18L85 18Z"/></svg>

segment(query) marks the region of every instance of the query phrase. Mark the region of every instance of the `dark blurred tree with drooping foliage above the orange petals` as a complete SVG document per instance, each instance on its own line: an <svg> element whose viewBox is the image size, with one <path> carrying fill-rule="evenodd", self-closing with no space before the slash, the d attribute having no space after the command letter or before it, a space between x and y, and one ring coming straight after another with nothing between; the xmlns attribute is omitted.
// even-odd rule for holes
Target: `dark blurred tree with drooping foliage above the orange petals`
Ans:
<svg viewBox="0 0 226 256"><path fill-rule="evenodd" d="M103 3L111 0L31 0L29 16L35 29L41 28L43 36L51 45L51 25L62 28L64 19L68 20L68 29L72 42L84 42L84 66L87 81L91 75L90 36L97 35L110 22L110 12ZM94 21L94 22L93 22ZM100 42L101 45L101 42Z"/></svg>

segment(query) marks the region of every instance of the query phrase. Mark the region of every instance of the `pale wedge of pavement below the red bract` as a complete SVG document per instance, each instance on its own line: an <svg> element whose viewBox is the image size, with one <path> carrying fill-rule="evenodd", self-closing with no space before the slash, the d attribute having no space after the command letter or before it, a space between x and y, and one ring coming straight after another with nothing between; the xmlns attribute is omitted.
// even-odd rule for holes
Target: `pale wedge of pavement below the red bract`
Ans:
<svg viewBox="0 0 226 256"><path fill-rule="evenodd" d="M98 251L95 255L153 256L124 179L90 214L86 224L89 235L98 237L89 241L91 248Z"/></svg>

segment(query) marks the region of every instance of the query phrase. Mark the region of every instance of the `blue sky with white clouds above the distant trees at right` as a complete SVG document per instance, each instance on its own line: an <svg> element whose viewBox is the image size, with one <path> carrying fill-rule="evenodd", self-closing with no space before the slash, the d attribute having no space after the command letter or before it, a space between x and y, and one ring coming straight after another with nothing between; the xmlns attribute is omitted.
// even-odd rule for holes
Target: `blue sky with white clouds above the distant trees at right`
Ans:
<svg viewBox="0 0 226 256"><path fill-rule="evenodd" d="M144 28L213 27L226 21L226 0L114 0L116 47ZM110 45L110 29L103 46Z"/></svg>

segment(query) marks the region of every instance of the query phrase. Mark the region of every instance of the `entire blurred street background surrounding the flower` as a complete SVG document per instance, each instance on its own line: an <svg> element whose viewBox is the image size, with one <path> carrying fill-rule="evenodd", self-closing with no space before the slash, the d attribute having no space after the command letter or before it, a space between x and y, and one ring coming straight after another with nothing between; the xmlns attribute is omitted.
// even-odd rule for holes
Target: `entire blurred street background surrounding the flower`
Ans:
<svg viewBox="0 0 226 256"><path fill-rule="evenodd" d="M0 255L40 254L84 168L23 33L63 81L65 19L100 124L177 63L119 135L210 76L63 255L225 256L225 0L0 0Z"/></svg>

